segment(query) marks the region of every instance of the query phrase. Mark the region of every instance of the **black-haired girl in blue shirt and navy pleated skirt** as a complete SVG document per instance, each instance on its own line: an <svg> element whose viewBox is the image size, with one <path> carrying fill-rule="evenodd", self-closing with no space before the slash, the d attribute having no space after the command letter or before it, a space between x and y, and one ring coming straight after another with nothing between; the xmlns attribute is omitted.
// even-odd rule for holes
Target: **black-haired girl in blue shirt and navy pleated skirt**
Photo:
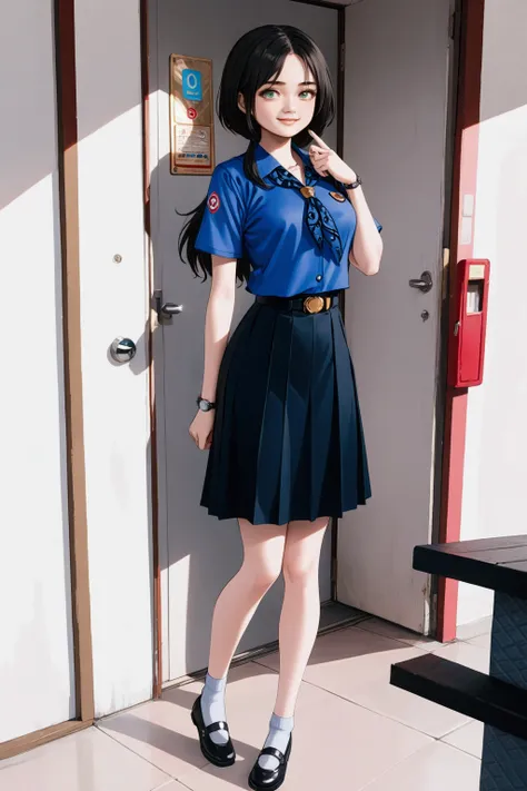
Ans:
<svg viewBox="0 0 527 791"><path fill-rule="evenodd" d="M231 659L262 596L285 577L278 693L249 774L257 791L279 788L286 774L319 625L329 518L370 496L338 293L349 286L350 263L378 271L381 226L356 172L319 137L334 113L327 63L306 33L266 24L242 36L227 58L218 115L249 146L216 167L179 238L195 275L212 277L189 428L210 449L200 504L219 520L236 517L243 543L242 565L216 602L192 706L201 751L218 767L236 758L225 712ZM228 339L237 278L255 301Z"/></svg>

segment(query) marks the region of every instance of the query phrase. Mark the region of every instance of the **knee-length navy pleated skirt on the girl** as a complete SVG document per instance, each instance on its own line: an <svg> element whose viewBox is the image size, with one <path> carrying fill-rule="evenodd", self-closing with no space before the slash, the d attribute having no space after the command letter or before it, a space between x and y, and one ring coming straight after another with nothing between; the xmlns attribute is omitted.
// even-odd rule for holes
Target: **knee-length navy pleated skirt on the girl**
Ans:
<svg viewBox="0 0 527 791"><path fill-rule="evenodd" d="M200 505L282 525L341 516L370 481L338 305L318 314L255 301L227 343Z"/></svg>

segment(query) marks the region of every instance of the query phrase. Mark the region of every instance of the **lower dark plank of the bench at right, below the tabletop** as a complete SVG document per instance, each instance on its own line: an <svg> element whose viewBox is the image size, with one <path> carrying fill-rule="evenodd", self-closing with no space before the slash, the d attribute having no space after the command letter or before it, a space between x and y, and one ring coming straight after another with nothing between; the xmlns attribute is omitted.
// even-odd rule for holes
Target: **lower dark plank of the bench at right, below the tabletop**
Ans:
<svg viewBox="0 0 527 791"><path fill-rule="evenodd" d="M527 740L527 690L434 654L392 664L390 684Z"/></svg>

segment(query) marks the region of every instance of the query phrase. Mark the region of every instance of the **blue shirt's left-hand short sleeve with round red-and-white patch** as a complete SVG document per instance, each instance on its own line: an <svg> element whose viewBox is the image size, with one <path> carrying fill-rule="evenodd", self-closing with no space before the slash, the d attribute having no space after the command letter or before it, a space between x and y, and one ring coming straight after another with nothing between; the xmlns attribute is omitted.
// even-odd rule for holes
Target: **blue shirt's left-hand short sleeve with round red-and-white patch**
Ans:
<svg viewBox="0 0 527 791"><path fill-rule="evenodd" d="M225 258L242 256L243 200L240 192L232 174L218 165L210 179L196 249Z"/></svg>

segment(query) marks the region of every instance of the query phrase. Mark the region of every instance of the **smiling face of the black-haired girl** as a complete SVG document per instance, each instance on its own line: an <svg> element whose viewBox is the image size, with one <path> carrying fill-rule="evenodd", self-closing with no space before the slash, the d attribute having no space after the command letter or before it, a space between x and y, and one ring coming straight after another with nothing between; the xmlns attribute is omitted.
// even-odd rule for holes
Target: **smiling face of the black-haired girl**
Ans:
<svg viewBox="0 0 527 791"><path fill-rule="evenodd" d="M296 55L288 55L276 81L262 85L255 97L255 118L262 130L294 137L306 129L315 113L317 85ZM239 97L243 109L243 98Z"/></svg>

